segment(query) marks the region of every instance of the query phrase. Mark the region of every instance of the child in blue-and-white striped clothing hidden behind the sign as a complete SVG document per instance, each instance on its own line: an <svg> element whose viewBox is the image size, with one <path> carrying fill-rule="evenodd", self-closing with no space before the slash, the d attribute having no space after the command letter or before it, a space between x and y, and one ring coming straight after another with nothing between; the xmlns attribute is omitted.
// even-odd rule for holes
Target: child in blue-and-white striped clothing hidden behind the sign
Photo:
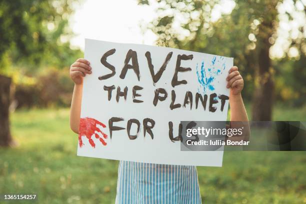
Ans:
<svg viewBox="0 0 306 204"><path fill-rule="evenodd" d="M70 66L74 89L70 109L70 127L78 133L83 76L91 74L89 61L79 58ZM233 66L226 78L230 88L231 121L248 121L241 97L243 79ZM165 165L120 161L116 203L201 203L195 166Z"/></svg>

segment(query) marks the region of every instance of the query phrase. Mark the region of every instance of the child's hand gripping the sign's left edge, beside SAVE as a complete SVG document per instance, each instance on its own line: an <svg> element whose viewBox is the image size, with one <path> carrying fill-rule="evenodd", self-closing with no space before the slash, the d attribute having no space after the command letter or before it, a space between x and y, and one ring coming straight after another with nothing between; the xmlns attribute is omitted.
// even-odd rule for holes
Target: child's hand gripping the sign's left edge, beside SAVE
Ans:
<svg viewBox="0 0 306 204"><path fill-rule="evenodd" d="M70 77L75 84L83 83L83 76L91 73L91 66L89 61L83 58L78 58L70 66Z"/></svg>

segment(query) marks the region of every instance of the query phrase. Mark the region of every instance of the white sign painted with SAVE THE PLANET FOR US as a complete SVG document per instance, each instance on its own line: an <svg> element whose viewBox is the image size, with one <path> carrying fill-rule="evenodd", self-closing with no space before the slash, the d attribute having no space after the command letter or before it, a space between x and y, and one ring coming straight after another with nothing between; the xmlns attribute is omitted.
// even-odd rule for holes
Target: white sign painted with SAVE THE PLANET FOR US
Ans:
<svg viewBox="0 0 306 204"><path fill-rule="evenodd" d="M77 155L221 166L223 151L181 151L182 120L226 120L233 58L85 39Z"/></svg>

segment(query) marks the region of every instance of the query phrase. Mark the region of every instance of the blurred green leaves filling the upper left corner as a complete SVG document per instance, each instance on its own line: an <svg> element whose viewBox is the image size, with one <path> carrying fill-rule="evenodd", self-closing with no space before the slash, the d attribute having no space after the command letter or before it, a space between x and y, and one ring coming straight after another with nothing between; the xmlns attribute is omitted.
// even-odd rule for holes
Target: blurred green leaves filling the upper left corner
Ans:
<svg viewBox="0 0 306 204"><path fill-rule="evenodd" d="M72 2L0 0L0 64L9 60L18 70L30 74L46 64L59 68L69 64L71 57L81 53L71 50L68 42ZM4 67L0 71L9 74Z"/></svg>

